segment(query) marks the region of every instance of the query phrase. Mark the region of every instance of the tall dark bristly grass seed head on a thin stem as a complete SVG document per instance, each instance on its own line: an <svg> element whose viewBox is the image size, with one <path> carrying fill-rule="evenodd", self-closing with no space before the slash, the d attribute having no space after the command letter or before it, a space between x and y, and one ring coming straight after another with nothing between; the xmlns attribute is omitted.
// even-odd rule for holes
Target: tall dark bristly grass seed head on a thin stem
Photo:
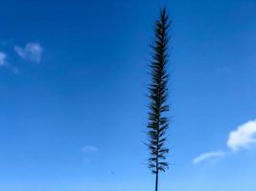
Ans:
<svg viewBox="0 0 256 191"><path fill-rule="evenodd" d="M169 111L167 103L168 97L168 29L171 25L166 9L160 13L160 17L154 23L155 39L152 48L151 61L151 84L149 87L150 112L148 124L149 142L147 143L151 157L149 159L149 168L155 175L155 191L158 190L158 174L160 171L165 172L168 168L166 154L169 149L165 147L166 130L169 126L169 118L164 114Z"/></svg>

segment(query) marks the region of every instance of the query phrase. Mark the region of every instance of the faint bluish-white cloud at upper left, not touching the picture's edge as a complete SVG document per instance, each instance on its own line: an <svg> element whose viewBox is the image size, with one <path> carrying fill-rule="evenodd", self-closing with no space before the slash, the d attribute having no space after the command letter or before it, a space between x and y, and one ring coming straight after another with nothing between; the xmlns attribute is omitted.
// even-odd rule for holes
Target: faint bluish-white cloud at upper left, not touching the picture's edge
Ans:
<svg viewBox="0 0 256 191"><path fill-rule="evenodd" d="M25 60L39 63L41 61L43 48L37 43L30 42L26 44L25 48L15 46L14 51Z"/></svg>

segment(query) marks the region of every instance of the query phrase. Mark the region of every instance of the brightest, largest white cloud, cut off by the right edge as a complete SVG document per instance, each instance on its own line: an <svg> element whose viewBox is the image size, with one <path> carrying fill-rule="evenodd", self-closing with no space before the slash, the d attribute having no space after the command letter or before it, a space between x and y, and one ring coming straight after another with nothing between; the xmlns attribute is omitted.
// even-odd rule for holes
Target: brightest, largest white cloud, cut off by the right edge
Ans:
<svg viewBox="0 0 256 191"><path fill-rule="evenodd" d="M249 120L229 134L227 146L232 151L249 149L256 143L256 120Z"/></svg>

